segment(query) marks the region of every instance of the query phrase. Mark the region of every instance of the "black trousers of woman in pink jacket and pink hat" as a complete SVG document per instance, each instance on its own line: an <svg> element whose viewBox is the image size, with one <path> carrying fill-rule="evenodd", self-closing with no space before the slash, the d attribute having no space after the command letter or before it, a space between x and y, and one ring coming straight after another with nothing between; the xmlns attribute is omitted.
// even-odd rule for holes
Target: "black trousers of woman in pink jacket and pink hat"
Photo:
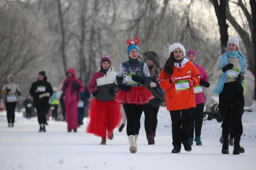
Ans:
<svg viewBox="0 0 256 170"><path fill-rule="evenodd" d="M194 138L194 128L195 128L195 136L201 136L203 107L204 107L204 103L200 103L200 104L197 104L195 108L193 108L190 138Z"/></svg>

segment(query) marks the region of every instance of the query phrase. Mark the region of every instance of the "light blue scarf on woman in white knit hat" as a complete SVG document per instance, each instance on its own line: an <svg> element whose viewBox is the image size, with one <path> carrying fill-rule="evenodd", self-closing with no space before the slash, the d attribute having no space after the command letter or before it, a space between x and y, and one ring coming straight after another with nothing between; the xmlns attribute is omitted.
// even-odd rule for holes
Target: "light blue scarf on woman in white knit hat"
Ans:
<svg viewBox="0 0 256 170"><path fill-rule="evenodd" d="M228 64L228 57L230 58L237 58L239 57L239 63L241 66L241 72L240 74L243 73L244 69L246 68L246 59L243 56L243 53L240 52L239 50L228 50L227 52L225 52L224 54L222 54L222 57L220 58L220 66L221 68L224 67L225 65ZM227 78L227 72L225 71L225 73L223 73L223 75L219 78L219 82L216 85L215 90L213 91L216 94L220 94L222 92L224 83L226 81ZM243 86L243 81L241 82L242 86Z"/></svg>

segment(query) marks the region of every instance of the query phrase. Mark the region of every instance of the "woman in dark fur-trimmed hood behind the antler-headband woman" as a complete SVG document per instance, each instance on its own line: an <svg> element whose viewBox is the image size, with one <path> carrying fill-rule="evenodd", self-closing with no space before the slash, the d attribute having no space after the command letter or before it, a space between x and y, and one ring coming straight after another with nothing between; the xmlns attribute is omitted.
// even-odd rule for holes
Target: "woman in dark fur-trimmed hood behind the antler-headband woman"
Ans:
<svg viewBox="0 0 256 170"><path fill-rule="evenodd" d="M148 145L155 145L155 131L157 126L157 113L160 104L165 101L164 94L160 85L158 83L158 77L160 74L160 59L156 52L153 50L148 50L143 53L144 62L148 65L149 72L151 75L152 82L144 87L148 88L154 98L151 99L144 106L145 114L145 131L148 139Z"/></svg>

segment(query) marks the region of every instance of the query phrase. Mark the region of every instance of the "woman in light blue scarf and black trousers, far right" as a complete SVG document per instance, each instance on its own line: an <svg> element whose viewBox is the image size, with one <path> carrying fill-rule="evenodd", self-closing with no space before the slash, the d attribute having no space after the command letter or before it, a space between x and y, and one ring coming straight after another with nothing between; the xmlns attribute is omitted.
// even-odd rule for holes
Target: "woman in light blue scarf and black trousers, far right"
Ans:
<svg viewBox="0 0 256 170"><path fill-rule="evenodd" d="M222 116L222 154L229 154L229 134L232 120L234 133L233 154L244 152L240 146L243 134L242 114L244 107L245 79L247 76L246 58L239 51L239 38L230 37L228 51L222 54L214 69L213 77L218 79L214 93L219 94L219 109Z"/></svg>

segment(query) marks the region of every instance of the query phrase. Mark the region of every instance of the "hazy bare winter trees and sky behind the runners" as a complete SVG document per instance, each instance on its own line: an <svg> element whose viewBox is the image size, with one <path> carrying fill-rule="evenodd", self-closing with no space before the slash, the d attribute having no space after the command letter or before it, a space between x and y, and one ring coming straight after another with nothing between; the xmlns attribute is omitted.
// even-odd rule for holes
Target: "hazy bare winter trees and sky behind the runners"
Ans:
<svg viewBox="0 0 256 170"><path fill-rule="evenodd" d="M250 70L246 98L255 99L256 0L0 0L0 87L13 73L25 96L45 70L60 89L69 67L88 85L101 56L117 70L126 40L139 37L140 50L155 50L162 66L170 44L195 50L211 96L216 60L234 35Z"/></svg>

